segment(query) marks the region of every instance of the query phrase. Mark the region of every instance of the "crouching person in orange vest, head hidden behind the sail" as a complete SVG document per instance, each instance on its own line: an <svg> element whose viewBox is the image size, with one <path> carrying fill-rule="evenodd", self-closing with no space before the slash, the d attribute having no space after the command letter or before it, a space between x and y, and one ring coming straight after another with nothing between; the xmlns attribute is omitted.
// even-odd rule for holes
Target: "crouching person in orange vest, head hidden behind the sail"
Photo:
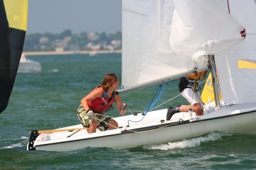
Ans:
<svg viewBox="0 0 256 170"><path fill-rule="evenodd" d="M189 74L186 77L180 78L179 82L179 91L180 94L187 99L190 105L181 105L178 107L168 107L166 120L170 120L175 113L179 112L188 112L192 110L196 113L196 116L204 115L204 111L202 110L200 103L202 103L198 82L203 79L207 71L202 71L198 73Z"/></svg>

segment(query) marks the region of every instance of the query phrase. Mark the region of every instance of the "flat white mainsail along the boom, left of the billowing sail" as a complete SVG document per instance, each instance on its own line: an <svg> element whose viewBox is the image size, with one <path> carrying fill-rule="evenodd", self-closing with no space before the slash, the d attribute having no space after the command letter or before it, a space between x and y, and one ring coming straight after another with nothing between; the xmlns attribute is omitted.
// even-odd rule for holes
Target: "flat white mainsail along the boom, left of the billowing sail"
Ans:
<svg viewBox="0 0 256 170"><path fill-rule="evenodd" d="M173 1L124 0L122 12L122 92L192 73L195 62L173 52Z"/></svg>

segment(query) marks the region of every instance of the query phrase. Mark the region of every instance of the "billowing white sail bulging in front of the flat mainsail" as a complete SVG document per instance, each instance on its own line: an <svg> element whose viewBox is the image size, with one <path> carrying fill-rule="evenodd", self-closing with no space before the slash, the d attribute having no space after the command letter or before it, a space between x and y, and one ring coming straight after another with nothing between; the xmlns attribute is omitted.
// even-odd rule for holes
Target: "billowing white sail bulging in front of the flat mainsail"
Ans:
<svg viewBox="0 0 256 170"><path fill-rule="evenodd" d="M212 0L174 0L170 44L184 60L204 62L204 55L214 55L244 38L244 27L221 5ZM200 57L202 59L200 59ZM199 59L199 60L198 60Z"/></svg>

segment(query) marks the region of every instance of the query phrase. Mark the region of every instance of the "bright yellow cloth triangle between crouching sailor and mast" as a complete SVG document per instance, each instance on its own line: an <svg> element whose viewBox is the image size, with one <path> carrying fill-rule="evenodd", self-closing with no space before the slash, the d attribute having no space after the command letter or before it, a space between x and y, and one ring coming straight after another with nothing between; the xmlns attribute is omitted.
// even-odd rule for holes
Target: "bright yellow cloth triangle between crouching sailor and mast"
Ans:
<svg viewBox="0 0 256 170"><path fill-rule="evenodd" d="M220 94L220 92L219 92ZM210 73L207 80L205 81L205 85L204 85L204 89L203 92L201 94L201 98L203 103L209 103L209 102L213 102L215 101L214 99L214 91L213 91L213 87L212 87L212 74ZM220 95L220 99L222 99L221 95Z"/></svg>

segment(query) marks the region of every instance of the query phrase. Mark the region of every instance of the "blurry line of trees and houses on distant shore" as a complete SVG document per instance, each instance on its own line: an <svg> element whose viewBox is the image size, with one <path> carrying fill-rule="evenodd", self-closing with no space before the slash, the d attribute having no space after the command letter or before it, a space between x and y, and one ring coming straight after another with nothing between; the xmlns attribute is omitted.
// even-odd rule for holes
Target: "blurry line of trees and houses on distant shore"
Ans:
<svg viewBox="0 0 256 170"><path fill-rule="evenodd" d="M60 34L27 34L24 52L79 51L79 50L120 50L122 32L81 32L72 34L69 29Z"/></svg>

